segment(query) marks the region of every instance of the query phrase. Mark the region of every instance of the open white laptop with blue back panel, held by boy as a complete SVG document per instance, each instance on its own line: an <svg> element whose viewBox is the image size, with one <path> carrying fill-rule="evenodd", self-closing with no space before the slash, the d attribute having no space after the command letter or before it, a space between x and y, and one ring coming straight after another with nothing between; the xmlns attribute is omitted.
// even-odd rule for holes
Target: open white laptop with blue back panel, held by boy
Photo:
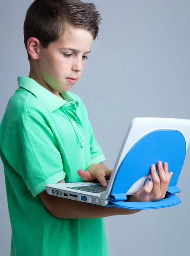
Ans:
<svg viewBox="0 0 190 256"><path fill-rule="evenodd" d="M185 155L190 144L190 120L175 118L138 117L131 121L119 150L116 162L108 182L107 188L95 182L56 183L46 185L50 195L82 201L101 206L114 205L126 207L125 200L128 195L139 192L150 180L150 167L161 160L167 162L169 172L173 172L168 189L168 195L180 192L176 183L178 181ZM178 164L176 164L176 161ZM168 197L170 197L168 196ZM176 197L177 198L177 197ZM172 197L172 205L181 201ZM178 198L179 199L179 198ZM162 200L161 200L162 201ZM171 200L170 200L171 201ZM174 202L175 201L175 202ZM120 202L120 203L118 203ZM142 202L141 202L142 203ZM158 202L152 208L157 208ZM129 203L132 205L132 203ZM161 207L161 204L157 204ZM162 207L172 206L164 201ZM145 208L146 208L145 207ZM136 204L130 209L142 209Z"/></svg>

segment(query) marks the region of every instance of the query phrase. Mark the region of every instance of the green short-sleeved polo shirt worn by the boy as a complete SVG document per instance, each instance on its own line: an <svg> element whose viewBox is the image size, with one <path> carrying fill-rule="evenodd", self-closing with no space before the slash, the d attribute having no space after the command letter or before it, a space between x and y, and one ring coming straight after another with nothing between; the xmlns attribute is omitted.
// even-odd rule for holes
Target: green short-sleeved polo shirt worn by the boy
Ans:
<svg viewBox="0 0 190 256"><path fill-rule="evenodd" d="M85 106L74 93L61 99L31 78L17 80L0 125L11 256L108 256L102 218L54 218L38 195L46 184L81 181L78 169L105 160Z"/></svg>

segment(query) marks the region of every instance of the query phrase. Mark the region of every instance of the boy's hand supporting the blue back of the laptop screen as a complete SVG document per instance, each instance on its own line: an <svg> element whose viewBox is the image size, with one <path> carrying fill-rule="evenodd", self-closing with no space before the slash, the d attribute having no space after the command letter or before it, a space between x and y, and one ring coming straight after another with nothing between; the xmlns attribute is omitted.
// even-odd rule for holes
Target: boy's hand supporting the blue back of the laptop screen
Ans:
<svg viewBox="0 0 190 256"><path fill-rule="evenodd" d="M147 182L141 191L131 195L130 202L159 201L165 197L173 172L168 172L167 163L162 166L161 161L157 163L157 167L159 175L156 172L155 165L152 165L150 169L153 183L151 181Z"/></svg>

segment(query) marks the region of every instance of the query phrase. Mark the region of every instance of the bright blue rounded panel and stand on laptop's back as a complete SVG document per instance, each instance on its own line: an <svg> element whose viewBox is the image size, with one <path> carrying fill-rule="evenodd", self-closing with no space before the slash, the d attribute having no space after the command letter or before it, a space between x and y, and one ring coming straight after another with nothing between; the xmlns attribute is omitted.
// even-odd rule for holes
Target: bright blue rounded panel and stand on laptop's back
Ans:
<svg viewBox="0 0 190 256"><path fill-rule="evenodd" d="M177 130L156 130L146 134L133 145L122 161L111 192L107 207L127 209L156 209L180 204L174 195L180 189L176 186L184 164L186 142L183 134ZM150 167L161 160L168 163L169 172L173 172L167 189L168 198L156 202L125 202L126 192L140 178L150 175Z"/></svg>

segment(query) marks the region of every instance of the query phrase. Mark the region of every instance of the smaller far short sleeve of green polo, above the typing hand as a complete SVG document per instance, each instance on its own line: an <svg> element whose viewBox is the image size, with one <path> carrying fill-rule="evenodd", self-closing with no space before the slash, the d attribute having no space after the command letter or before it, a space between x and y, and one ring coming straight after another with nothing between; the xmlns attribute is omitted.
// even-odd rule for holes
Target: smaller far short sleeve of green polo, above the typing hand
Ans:
<svg viewBox="0 0 190 256"><path fill-rule="evenodd" d="M91 122L88 120L88 131L89 131L89 138L90 138L90 148L91 148L91 164L93 163L101 163L105 160L105 156L102 152L102 148L97 143L94 132L92 129Z"/></svg>

